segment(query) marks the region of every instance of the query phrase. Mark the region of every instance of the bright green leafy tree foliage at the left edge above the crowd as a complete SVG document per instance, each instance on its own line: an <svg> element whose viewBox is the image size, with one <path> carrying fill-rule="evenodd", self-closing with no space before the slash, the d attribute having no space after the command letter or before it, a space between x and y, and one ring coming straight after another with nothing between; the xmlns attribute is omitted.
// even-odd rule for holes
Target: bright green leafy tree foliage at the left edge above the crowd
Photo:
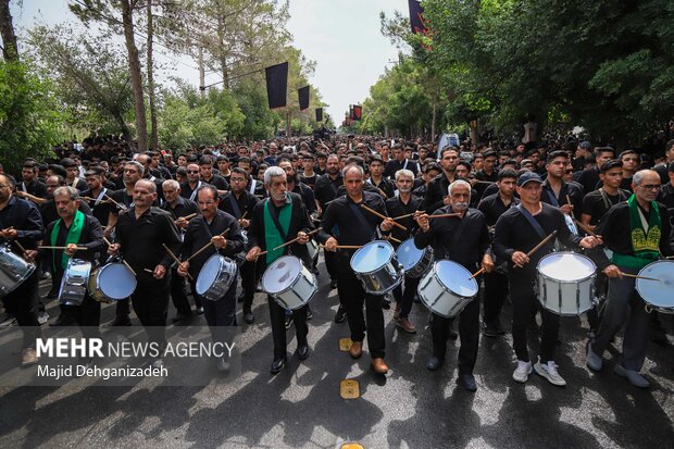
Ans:
<svg viewBox="0 0 674 449"><path fill-rule="evenodd" d="M50 84L25 63L0 60L0 155L5 171L16 173L26 157L49 154L64 138L60 121Z"/></svg>

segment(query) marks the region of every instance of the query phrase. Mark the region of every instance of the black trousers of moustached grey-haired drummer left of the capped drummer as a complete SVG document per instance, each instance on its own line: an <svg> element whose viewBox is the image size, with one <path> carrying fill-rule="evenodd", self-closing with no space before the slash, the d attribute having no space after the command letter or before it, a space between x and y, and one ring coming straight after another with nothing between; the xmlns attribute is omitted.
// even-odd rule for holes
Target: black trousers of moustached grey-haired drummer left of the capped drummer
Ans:
<svg viewBox="0 0 674 449"><path fill-rule="evenodd" d="M455 317L446 319L433 313L433 320L430 322L433 354L440 360L445 360L449 326L454 320ZM478 299L469 302L459 314L459 338L461 338L461 348L459 349L459 373L473 374L473 367L477 360L477 349L479 347Z"/></svg>

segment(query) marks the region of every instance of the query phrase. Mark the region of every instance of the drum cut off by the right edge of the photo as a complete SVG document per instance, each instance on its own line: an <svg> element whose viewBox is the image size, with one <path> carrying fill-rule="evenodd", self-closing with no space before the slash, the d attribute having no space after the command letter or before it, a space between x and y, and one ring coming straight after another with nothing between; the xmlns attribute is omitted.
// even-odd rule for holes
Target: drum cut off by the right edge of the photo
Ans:
<svg viewBox="0 0 674 449"><path fill-rule="evenodd" d="M674 261L651 262L641 269L639 276L660 279L636 279L635 287L646 301L647 310L674 313Z"/></svg>

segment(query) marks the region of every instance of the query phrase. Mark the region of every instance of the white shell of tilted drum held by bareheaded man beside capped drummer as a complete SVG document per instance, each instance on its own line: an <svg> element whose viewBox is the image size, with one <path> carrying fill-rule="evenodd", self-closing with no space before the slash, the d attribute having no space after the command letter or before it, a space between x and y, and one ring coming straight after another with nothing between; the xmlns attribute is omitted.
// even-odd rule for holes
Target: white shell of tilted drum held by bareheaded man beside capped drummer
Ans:
<svg viewBox="0 0 674 449"><path fill-rule="evenodd" d="M416 292L428 310L442 317L451 319L461 313L477 296L477 292L471 297L453 292L439 277L438 267L440 262L442 261L434 263L433 267L422 277ZM471 273L466 270L466 277L470 275Z"/></svg>

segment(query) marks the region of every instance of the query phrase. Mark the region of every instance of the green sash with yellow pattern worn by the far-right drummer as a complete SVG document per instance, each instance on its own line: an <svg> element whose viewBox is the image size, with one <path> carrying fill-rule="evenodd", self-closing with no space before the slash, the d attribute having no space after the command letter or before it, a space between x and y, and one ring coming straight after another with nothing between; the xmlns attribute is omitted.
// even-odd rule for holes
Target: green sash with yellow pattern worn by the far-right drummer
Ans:
<svg viewBox="0 0 674 449"><path fill-rule="evenodd" d="M629 242L634 255L613 253L611 260L619 265L640 270L660 255L660 237L662 235L660 209L656 201L651 201L647 230L639 217L637 199L634 194L627 200L627 207L629 210Z"/></svg>

